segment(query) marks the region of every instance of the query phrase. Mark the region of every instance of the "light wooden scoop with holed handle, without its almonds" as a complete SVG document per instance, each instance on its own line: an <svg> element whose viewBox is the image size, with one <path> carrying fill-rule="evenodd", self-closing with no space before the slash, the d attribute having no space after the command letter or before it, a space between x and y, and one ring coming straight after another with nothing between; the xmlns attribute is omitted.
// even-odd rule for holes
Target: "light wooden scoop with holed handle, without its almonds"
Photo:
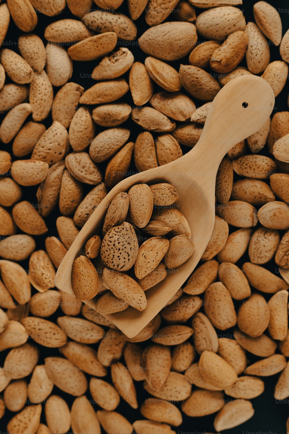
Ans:
<svg viewBox="0 0 289 434"><path fill-rule="evenodd" d="M55 285L73 294L73 261L84 255L86 241L101 233L107 208L118 193L128 191L134 184L169 182L179 194L177 206L191 227L195 250L187 262L146 291L147 307L143 312L129 307L107 315L129 338L137 335L182 286L204 253L214 227L215 180L222 158L238 142L257 132L273 107L273 90L261 77L247 75L227 83L212 102L201 138L191 151L172 163L124 179L104 197L66 253L56 273ZM85 302L95 308L94 299Z"/></svg>

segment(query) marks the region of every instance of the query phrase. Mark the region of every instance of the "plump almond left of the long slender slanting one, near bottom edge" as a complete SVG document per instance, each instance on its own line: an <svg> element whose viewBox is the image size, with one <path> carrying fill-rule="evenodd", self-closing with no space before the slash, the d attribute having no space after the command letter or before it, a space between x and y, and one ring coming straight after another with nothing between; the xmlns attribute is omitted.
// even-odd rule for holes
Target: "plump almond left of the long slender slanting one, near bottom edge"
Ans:
<svg viewBox="0 0 289 434"><path fill-rule="evenodd" d="M100 378L91 378L89 390L96 404L104 410L113 411L120 403L120 397L114 386Z"/></svg>

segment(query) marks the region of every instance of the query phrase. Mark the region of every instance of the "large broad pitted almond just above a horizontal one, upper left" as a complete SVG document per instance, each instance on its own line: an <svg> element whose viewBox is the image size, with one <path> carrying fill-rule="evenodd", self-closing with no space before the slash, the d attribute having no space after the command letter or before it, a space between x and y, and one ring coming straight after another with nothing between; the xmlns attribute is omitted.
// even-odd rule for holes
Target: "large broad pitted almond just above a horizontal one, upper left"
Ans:
<svg viewBox="0 0 289 434"><path fill-rule="evenodd" d="M32 159L45 161L51 166L61 161L68 151L69 138L66 128L60 122L53 122L36 143Z"/></svg>

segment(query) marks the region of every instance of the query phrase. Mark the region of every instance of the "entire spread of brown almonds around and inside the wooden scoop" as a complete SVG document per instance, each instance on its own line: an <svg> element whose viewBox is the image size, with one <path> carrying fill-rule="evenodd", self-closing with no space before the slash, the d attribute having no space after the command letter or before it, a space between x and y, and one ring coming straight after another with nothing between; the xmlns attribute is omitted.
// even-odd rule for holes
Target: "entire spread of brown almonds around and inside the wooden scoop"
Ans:
<svg viewBox="0 0 289 434"><path fill-rule="evenodd" d="M260 75L287 101L289 30L269 3L250 9L246 23L242 0L0 1L2 431L260 431L254 398L271 375L276 402L287 402L288 110L223 159L201 262L134 338L104 314L144 309L144 291L192 253L173 186L120 193L75 261L76 297L54 283L107 191L192 148L228 81ZM132 246L115 257L122 233ZM115 289L133 265L138 299L125 298L127 282ZM83 300L96 294L94 310Z"/></svg>

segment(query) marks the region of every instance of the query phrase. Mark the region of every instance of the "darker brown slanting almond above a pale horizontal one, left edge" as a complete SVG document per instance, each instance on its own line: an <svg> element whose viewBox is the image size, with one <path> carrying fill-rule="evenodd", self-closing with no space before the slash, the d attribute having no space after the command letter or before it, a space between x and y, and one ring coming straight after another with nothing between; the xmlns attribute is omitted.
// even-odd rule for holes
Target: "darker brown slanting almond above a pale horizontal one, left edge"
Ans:
<svg viewBox="0 0 289 434"><path fill-rule="evenodd" d="M43 235L48 230L37 209L28 201L18 202L12 215L19 229L29 235Z"/></svg>

